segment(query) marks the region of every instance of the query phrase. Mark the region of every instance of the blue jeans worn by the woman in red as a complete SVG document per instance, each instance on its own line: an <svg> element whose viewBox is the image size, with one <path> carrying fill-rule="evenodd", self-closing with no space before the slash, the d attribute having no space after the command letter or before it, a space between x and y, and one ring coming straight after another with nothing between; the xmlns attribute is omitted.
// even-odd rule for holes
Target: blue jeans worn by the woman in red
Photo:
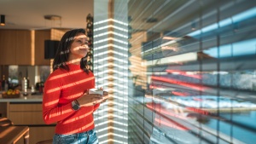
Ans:
<svg viewBox="0 0 256 144"><path fill-rule="evenodd" d="M98 144L95 130L71 135L55 134L53 144Z"/></svg>

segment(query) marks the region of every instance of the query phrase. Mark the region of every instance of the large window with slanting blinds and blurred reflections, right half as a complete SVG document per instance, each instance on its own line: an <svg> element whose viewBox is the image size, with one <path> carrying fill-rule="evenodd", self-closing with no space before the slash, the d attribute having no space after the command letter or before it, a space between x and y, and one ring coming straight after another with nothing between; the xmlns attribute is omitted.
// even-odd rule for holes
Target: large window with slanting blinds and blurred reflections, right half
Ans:
<svg viewBox="0 0 256 144"><path fill-rule="evenodd" d="M247 1L129 1L131 143L256 141L255 10Z"/></svg>

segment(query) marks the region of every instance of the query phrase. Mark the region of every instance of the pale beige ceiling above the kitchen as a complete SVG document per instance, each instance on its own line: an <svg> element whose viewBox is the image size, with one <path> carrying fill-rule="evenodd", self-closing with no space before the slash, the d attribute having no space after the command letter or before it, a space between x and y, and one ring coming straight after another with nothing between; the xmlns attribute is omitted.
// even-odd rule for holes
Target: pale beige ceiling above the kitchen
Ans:
<svg viewBox="0 0 256 144"><path fill-rule="evenodd" d="M85 28L86 16L93 15L93 0L0 0L5 26L0 29L40 30ZM46 20L44 15L61 19Z"/></svg>

